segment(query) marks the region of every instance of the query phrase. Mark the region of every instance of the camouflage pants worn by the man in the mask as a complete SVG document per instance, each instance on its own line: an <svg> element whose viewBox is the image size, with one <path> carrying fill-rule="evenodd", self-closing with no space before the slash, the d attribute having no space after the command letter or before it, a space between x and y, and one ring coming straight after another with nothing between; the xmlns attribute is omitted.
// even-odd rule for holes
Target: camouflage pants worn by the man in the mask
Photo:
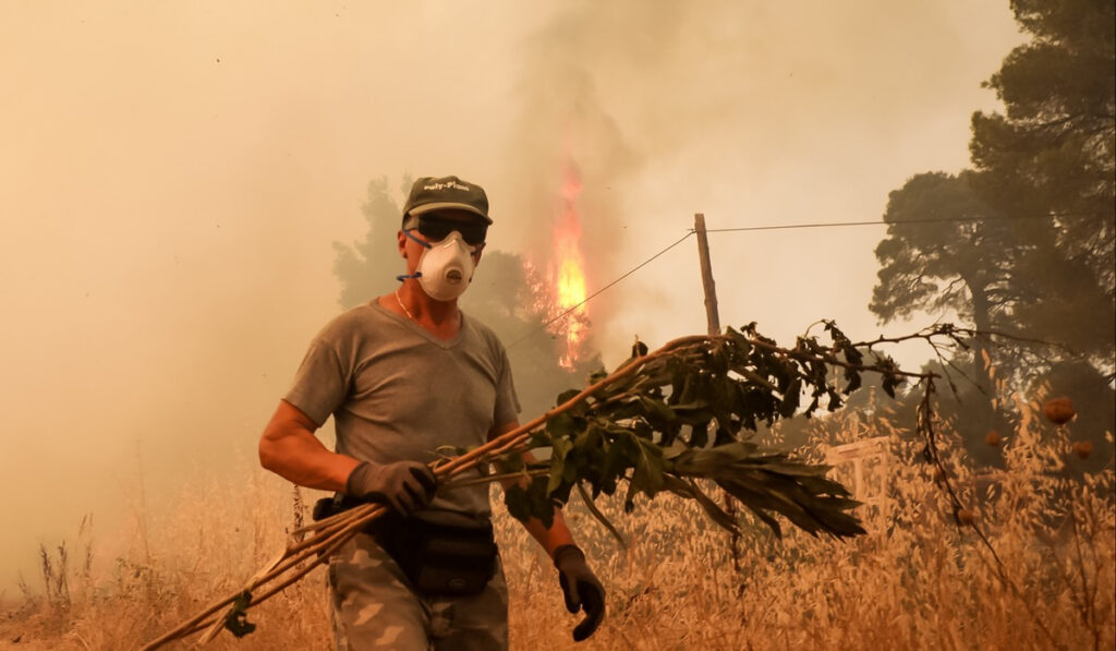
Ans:
<svg viewBox="0 0 1116 651"><path fill-rule="evenodd" d="M338 651L508 648L508 586L499 564L480 594L426 597L372 536L357 534L329 559L329 587Z"/></svg>

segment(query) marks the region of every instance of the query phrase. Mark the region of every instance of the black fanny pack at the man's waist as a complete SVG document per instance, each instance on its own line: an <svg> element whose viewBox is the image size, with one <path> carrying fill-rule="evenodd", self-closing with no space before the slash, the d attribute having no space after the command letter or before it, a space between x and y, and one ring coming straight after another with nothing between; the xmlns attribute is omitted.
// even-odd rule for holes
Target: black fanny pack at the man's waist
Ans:
<svg viewBox="0 0 1116 651"><path fill-rule="evenodd" d="M352 506L345 500L334 504L337 510ZM315 519L320 519L318 515L315 508ZM369 523L366 533L424 595L479 594L496 574L499 548L488 518L444 510L419 511L410 518L388 514Z"/></svg>

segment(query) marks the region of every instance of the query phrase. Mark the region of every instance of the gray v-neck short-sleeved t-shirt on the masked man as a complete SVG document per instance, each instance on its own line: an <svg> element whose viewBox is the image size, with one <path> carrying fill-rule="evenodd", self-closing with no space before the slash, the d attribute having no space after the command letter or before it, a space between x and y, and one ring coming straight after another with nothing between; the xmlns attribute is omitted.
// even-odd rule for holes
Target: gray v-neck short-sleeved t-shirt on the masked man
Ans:
<svg viewBox="0 0 1116 651"><path fill-rule="evenodd" d="M331 414L337 451L379 463L480 446L519 414L508 354L491 329L462 315L458 335L442 341L376 300L318 333L283 400L319 427ZM431 507L488 516L488 494L442 490Z"/></svg>

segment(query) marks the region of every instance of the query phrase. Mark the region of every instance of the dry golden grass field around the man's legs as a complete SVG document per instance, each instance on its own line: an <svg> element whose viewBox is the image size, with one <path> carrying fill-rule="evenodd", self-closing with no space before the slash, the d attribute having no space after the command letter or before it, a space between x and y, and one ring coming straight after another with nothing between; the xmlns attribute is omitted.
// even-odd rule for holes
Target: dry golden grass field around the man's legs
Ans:
<svg viewBox="0 0 1116 651"><path fill-rule="evenodd" d="M681 499L662 496L627 516L604 502L627 548L571 506L609 591L608 619L577 648L1114 648L1112 461L1100 473L1075 475L1068 431L1050 437L1026 414L1004 438L1004 469L994 476L977 477L951 457L951 480L993 557L954 524L930 470L914 460L915 443L886 423L859 422L838 423L841 438L886 437L891 462L867 471L879 495L862 509L868 535L852 542L814 539L789 525L780 542L754 527L740 540L735 569L727 534ZM64 547L42 549L42 575L0 613L0 647L133 649L234 592L281 548L296 513L289 485L256 470L244 476L240 485L195 482L174 509L144 514L143 526L113 544L86 523ZM499 536L512 649L575 648L575 619L550 564L504 515ZM250 611L254 633L240 641L223 633L210 647L328 649L328 619L316 571Z"/></svg>

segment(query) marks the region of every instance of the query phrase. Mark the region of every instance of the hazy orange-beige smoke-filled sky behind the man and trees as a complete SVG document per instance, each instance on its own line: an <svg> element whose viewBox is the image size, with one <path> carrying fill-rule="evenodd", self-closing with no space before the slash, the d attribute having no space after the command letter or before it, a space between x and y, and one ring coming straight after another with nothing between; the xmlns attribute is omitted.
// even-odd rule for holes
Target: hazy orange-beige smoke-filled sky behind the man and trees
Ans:
<svg viewBox="0 0 1116 651"><path fill-rule="evenodd" d="M0 590L84 514L124 526L141 472L157 500L254 462L371 180L481 183L490 247L545 260L576 166L593 291L694 212L879 219L966 166L1021 41L1007 0L0 0ZM722 324L874 337L883 236L711 234ZM694 240L589 318L608 365L704 332Z"/></svg>

